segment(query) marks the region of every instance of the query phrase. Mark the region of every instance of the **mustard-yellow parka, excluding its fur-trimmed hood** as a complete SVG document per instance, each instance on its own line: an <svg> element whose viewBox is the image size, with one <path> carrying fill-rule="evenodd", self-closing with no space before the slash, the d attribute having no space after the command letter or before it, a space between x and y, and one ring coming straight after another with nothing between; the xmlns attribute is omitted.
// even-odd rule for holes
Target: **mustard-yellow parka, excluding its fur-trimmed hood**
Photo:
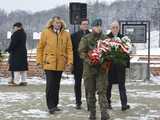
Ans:
<svg viewBox="0 0 160 120"><path fill-rule="evenodd" d="M37 64L44 70L64 71L65 66L73 64L73 51L70 33L62 30L56 34L44 29L37 47Z"/></svg>

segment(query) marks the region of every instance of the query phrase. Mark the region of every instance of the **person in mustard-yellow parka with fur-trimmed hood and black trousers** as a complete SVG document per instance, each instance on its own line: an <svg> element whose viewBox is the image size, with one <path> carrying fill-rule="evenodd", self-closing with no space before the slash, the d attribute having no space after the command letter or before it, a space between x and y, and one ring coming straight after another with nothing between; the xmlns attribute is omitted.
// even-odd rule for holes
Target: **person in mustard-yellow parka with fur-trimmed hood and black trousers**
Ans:
<svg viewBox="0 0 160 120"><path fill-rule="evenodd" d="M37 64L46 74L46 101L50 114L60 109L60 79L63 71L70 71L73 64L73 51L70 33L65 31L64 21L56 16L49 20L42 31L37 47Z"/></svg>

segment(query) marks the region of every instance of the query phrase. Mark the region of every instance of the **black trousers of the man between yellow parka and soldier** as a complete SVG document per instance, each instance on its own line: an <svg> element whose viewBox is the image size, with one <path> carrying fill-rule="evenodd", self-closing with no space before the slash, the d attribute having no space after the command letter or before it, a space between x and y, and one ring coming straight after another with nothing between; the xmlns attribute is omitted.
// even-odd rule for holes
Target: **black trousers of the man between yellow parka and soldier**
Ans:
<svg viewBox="0 0 160 120"><path fill-rule="evenodd" d="M76 97L76 104L81 105L82 104L82 101L81 101L82 72L80 72L80 71L74 72L74 79L75 79L74 92L75 92L75 97Z"/></svg>

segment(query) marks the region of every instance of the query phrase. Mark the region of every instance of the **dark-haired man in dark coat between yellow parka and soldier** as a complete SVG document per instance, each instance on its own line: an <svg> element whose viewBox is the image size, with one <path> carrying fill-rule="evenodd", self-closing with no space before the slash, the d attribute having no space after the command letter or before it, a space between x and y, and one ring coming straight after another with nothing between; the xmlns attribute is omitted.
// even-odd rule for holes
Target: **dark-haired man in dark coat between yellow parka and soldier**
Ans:
<svg viewBox="0 0 160 120"><path fill-rule="evenodd" d="M78 47L80 40L83 36L89 33L88 30L88 19L82 19L80 22L80 30L71 35L72 38L72 46L73 46L73 74L75 79L74 91L76 97L76 109L81 109L81 82L82 82L82 74L83 74L83 60L80 58L78 53ZM87 92L86 92L87 94Z"/></svg>

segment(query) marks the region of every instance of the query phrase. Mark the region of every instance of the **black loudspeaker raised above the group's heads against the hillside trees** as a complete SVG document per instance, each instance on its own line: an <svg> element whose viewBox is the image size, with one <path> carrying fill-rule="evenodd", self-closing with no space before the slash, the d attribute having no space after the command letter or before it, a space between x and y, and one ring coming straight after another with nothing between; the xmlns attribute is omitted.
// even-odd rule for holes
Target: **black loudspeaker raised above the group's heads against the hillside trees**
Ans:
<svg viewBox="0 0 160 120"><path fill-rule="evenodd" d="M80 24L80 20L87 18L87 4L72 2L69 5L70 24Z"/></svg>

